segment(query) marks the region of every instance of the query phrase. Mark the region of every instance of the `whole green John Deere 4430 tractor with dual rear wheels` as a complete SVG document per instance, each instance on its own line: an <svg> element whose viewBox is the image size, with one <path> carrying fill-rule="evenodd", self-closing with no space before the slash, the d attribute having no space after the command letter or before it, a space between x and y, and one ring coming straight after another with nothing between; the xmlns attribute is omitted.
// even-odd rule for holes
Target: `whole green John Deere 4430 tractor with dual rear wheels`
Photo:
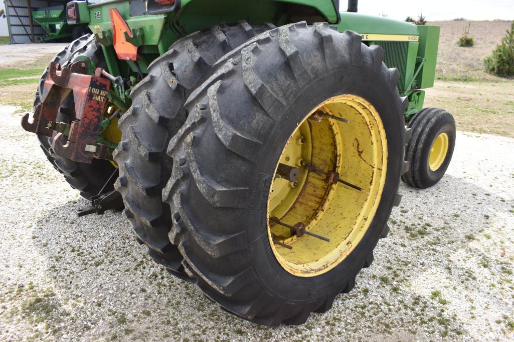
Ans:
<svg viewBox="0 0 514 342"><path fill-rule="evenodd" d="M123 208L171 274L238 317L303 324L351 291L400 178L445 174L452 116L423 108L439 27L333 0L88 0L33 120L91 206ZM410 165L410 167L409 167Z"/></svg>

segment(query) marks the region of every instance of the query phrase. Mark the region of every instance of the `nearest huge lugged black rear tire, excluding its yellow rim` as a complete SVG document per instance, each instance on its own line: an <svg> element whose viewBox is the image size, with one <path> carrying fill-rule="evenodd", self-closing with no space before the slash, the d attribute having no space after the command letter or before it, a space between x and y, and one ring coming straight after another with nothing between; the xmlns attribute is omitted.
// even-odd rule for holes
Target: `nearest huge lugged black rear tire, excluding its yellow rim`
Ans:
<svg viewBox="0 0 514 342"><path fill-rule="evenodd" d="M352 290L357 273L373 261L399 200L406 140L407 100L396 88L398 71L382 58L381 48L365 46L355 32L287 25L235 49L188 99L191 115L168 149L174 165L163 199L172 210L170 238L186 272L228 312L268 326L303 324ZM324 274L294 276L274 258L268 240L274 168L307 113L345 93L380 113L389 156L384 190L351 254Z"/></svg>

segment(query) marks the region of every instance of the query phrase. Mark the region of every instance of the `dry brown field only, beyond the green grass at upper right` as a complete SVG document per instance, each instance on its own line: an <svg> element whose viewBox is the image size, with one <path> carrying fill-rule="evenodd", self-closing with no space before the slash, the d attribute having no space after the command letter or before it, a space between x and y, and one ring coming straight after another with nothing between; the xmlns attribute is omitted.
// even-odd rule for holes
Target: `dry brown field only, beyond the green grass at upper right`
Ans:
<svg viewBox="0 0 514 342"><path fill-rule="evenodd" d="M501 42L512 22L471 22L469 35L475 39L475 46L457 46L464 28L470 22L429 22L441 27L439 53L437 55L437 78L444 81L498 81L499 78L484 71L484 58Z"/></svg>

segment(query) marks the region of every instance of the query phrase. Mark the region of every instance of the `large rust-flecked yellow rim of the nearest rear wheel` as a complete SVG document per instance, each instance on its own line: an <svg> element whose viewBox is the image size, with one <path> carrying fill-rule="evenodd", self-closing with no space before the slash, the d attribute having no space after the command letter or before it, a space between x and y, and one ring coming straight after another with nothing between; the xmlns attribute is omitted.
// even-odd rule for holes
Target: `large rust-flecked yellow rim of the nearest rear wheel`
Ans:
<svg viewBox="0 0 514 342"><path fill-rule="evenodd" d="M269 189L268 238L287 272L300 277L323 274L355 249L380 202L387 158L382 121L365 99L345 94L308 113L289 137L276 168L297 167L298 179L276 177ZM336 172L350 185L331 182L327 172ZM337 174L329 175L337 179ZM298 235L287 227L297 223L304 226Z"/></svg>

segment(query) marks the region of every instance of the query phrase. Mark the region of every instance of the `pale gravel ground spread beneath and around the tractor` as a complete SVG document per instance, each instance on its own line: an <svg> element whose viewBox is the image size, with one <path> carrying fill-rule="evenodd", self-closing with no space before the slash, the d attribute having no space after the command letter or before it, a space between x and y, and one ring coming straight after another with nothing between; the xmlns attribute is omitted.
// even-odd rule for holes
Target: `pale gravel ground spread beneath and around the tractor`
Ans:
<svg viewBox="0 0 514 342"><path fill-rule="evenodd" d="M401 185L354 291L300 327L219 310L154 264L117 213L81 199L15 107L0 107L0 340L512 340L514 139L459 132L442 182Z"/></svg>

